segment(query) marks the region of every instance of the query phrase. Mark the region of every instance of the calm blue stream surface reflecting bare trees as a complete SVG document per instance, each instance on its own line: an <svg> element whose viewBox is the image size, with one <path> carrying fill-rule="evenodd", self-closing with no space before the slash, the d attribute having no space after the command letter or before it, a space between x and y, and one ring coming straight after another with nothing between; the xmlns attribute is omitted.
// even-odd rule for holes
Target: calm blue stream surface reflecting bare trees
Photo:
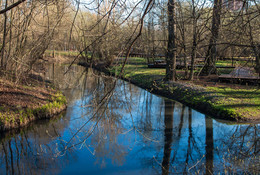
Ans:
<svg viewBox="0 0 260 175"><path fill-rule="evenodd" d="M1 174L260 172L260 125L206 117L124 81L49 67L67 96L63 116L1 135Z"/></svg>

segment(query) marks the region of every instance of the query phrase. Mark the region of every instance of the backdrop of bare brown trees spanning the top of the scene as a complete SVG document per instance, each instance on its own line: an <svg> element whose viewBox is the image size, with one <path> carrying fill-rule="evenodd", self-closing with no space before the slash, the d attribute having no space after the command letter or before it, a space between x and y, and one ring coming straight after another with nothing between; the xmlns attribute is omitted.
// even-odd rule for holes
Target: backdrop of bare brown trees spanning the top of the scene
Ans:
<svg viewBox="0 0 260 175"><path fill-rule="evenodd" d="M216 73L225 57L254 59L260 74L256 0L1 0L0 7L1 70L17 76L47 49L77 50L107 65L133 52L165 56L166 80L176 80L179 62L192 80L197 58L204 59L202 75Z"/></svg>

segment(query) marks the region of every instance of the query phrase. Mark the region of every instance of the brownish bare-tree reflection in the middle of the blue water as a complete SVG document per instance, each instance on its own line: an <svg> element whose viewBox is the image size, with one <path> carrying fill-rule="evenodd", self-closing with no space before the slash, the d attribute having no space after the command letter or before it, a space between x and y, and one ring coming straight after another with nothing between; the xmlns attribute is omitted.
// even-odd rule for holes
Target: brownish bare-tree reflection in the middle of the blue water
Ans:
<svg viewBox="0 0 260 175"><path fill-rule="evenodd" d="M84 117L89 123L80 132L76 131L71 144L90 142L97 164L104 167L105 159L110 158L113 163L122 165L127 152L118 138L124 132L122 111L128 110L122 100L123 91L116 88L114 78L105 75L99 75L91 83L81 104L87 106Z"/></svg>

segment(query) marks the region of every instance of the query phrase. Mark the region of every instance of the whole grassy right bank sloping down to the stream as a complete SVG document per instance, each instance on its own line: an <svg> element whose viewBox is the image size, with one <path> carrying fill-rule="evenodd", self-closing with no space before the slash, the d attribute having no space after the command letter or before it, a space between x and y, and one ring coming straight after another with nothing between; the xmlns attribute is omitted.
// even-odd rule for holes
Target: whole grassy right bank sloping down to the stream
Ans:
<svg viewBox="0 0 260 175"><path fill-rule="evenodd" d="M122 78L217 118L237 121L260 120L260 90L257 86L219 83L216 79L203 80L203 77L196 77L194 81L179 80L167 83L163 81L165 69L148 68L145 62L140 64L140 60L138 63L131 64L130 61ZM119 64L106 71L118 75L120 68ZM182 72L178 71L180 79ZM226 70L224 72L226 73Z"/></svg>

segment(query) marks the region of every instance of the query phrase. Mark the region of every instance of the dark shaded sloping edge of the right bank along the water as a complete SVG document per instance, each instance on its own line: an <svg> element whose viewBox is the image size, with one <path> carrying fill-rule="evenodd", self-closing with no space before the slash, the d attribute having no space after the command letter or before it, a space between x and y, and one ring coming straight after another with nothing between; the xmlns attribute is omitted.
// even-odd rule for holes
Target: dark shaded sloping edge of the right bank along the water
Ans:
<svg viewBox="0 0 260 175"><path fill-rule="evenodd" d="M81 66L87 67L86 64L79 64ZM218 97L213 91L195 85L182 82L164 82L162 79L155 81L145 82L145 79L149 79L149 76L143 77L118 77L115 73L107 68L102 68L95 66L94 69L101 71L107 75L120 78L122 80L128 81L140 88L143 88L153 94L160 95L172 100L183 103L205 115L216 119L223 119L227 121L235 121L239 123L249 122L249 123L260 123L260 118L245 117L234 110L230 110L225 107L219 107L216 104L220 100L225 100L225 97Z"/></svg>

